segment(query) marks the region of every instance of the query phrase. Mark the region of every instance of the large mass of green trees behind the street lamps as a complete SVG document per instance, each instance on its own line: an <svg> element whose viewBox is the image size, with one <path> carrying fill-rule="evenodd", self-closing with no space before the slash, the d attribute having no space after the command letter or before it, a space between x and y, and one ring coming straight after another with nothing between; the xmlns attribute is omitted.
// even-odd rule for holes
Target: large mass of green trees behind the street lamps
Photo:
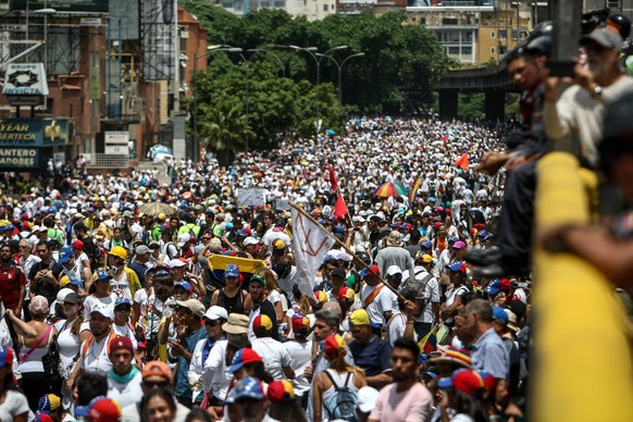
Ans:
<svg viewBox="0 0 633 422"><path fill-rule="evenodd" d="M249 148L274 147L278 135L287 131L312 135L318 114L322 129L337 131L347 111L400 114L426 110L433 103L433 85L455 64L431 32L406 25L405 13L335 14L308 22L283 10L263 9L238 18L208 0L179 3L209 29L209 45L243 49L241 58L209 54L208 72L198 73L197 113L200 122L209 115L201 114L201 104L240 103L245 125L252 131ZM316 50L311 54L289 46ZM331 50L339 46L347 48ZM253 53L251 49L270 52ZM327 57L319 55L328 50ZM359 52L364 55L345 61ZM249 64L240 65L244 60ZM345 105L338 102L339 88Z"/></svg>

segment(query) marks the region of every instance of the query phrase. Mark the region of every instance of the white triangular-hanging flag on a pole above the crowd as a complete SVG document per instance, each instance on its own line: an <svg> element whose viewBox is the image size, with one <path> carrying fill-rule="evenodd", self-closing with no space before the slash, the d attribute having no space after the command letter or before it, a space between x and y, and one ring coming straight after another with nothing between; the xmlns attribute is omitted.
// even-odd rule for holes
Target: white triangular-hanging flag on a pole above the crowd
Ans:
<svg viewBox="0 0 633 422"><path fill-rule="evenodd" d="M297 265L299 290L309 298L314 296L314 275L325 256L332 249L334 239L325 229L310 219L290 208L293 214L293 253Z"/></svg>

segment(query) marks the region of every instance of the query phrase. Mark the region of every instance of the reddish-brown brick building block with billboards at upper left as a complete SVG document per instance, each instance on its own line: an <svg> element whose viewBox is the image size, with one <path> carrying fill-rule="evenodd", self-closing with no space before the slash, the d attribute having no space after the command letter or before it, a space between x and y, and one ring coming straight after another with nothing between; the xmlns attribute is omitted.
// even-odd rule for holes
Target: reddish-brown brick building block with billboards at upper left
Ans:
<svg viewBox="0 0 633 422"><path fill-rule="evenodd" d="M48 94L37 104L0 96L0 156L2 148L18 147L8 140L20 137L7 132L18 127L33 132L27 137L35 144L22 146L40 148L39 163L84 156L88 165L123 169L145 158L152 145L172 147L174 139L182 140L185 157L179 102L190 95L194 58L207 51L207 29L176 0L83 2L91 10L73 10L76 2L62 0L63 12L40 0L29 0L28 10L20 3L12 9L0 3L0 61L3 66L44 63L46 73L38 76L47 80ZM51 122L55 125L48 128ZM33 170L1 160L0 169Z"/></svg>

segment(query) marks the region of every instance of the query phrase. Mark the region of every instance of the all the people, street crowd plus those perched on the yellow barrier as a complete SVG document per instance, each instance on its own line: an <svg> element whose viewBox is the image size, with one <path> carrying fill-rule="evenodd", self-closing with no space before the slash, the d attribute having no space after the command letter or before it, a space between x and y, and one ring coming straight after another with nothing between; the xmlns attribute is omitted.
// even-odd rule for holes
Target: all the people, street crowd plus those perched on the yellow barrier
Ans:
<svg viewBox="0 0 633 422"><path fill-rule="evenodd" d="M633 197L621 42L586 35L588 67L560 99L550 40L511 57L520 131L359 117L229 167L1 175L0 421L522 420L536 163L575 133ZM290 207L337 239L310 291ZM623 259L626 235L536 240L630 287L607 256Z"/></svg>

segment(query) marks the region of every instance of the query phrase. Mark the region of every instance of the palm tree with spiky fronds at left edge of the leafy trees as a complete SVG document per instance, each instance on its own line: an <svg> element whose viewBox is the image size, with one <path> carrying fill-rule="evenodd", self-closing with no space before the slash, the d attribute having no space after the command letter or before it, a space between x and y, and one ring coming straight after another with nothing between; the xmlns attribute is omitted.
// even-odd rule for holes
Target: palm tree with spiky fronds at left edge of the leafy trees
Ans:
<svg viewBox="0 0 633 422"><path fill-rule="evenodd" d="M244 113L244 104L226 100L215 107L201 107L198 129L200 139L218 153L218 161L222 165L231 164L235 153L246 149L246 139L253 135L248 125L248 116Z"/></svg>

